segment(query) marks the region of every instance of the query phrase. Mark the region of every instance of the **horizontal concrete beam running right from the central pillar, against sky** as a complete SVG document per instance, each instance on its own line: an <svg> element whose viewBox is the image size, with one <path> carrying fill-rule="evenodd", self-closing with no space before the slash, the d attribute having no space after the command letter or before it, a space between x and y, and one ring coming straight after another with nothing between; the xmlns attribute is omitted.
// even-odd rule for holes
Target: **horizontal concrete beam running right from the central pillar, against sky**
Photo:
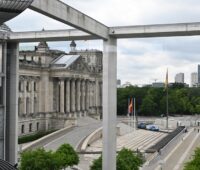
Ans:
<svg viewBox="0 0 200 170"><path fill-rule="evenodd" d="M178 23L111 27L109 35L115 38L145 38L200 35L200 23Z"/></svg>

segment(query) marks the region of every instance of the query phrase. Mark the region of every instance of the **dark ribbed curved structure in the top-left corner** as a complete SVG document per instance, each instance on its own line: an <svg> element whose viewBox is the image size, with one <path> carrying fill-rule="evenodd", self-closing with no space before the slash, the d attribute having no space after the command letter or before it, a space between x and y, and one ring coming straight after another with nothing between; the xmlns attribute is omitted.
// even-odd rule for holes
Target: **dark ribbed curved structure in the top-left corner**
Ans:
<svg viewBox="0 0 200 170"><path fill-rule="evenodd" d="M0 0L0 25L24 11L33 0Z"/></svg>

